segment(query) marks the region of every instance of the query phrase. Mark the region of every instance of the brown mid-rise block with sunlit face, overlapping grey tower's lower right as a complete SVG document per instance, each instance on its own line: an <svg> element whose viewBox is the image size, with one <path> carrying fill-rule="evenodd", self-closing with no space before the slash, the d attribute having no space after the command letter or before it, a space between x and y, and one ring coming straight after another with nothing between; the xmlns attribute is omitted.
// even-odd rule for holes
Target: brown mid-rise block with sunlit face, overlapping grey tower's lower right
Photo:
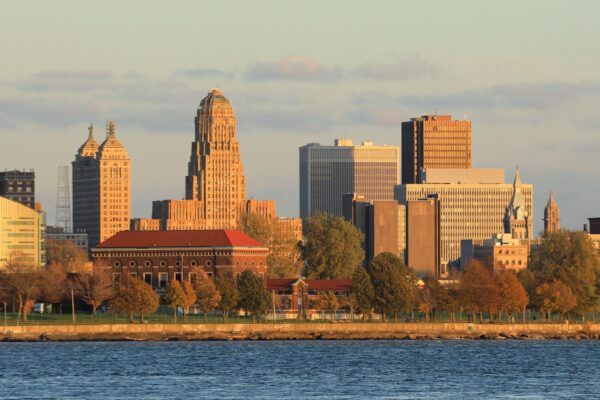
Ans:
<svg viewBox="0 0 600 400"><path fill-rule="evenodd" d="M406 252L406 208L395 200L367 201L354 193L343 196L344 218L364 235L365 265L380 253Z"/></svg>

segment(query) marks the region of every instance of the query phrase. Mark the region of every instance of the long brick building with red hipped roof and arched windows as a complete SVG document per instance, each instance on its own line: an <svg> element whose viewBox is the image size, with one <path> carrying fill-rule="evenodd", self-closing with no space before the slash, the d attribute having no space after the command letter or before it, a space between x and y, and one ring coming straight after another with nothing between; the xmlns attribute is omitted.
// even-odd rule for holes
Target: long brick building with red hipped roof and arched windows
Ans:
<svg viewBox="0 0 600 400"><path fill-rule="evenodd" d="M115 282L135 276L164 289L170 280L193 283L199 271L236 277L251 270L266 277L268 253L239 230L123 231L92 249L92 258Z"/></svg>

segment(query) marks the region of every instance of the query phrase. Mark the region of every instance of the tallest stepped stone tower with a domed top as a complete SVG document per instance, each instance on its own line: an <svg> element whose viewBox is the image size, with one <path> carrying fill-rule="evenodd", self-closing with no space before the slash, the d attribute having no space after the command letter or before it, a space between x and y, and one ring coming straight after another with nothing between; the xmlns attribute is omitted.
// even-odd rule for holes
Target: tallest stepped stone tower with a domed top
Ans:
<svg viewBox="0 0 600 400"><path fill-rule="evenodd" d="M200 102L185 179L186 199L201 202L205 229L236 228L246 201L246 180L229 100L213 89Z"/></svg>

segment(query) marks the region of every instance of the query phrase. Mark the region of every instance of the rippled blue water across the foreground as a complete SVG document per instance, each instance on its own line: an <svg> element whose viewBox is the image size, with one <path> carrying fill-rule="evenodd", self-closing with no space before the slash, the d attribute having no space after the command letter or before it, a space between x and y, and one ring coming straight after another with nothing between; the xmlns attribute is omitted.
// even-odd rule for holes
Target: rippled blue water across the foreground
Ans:
<svg viewBox="0 0 600 400"><path fill-rule="evenodd" d="M600 398L600 341L0 343L1 399Z"/></svg>

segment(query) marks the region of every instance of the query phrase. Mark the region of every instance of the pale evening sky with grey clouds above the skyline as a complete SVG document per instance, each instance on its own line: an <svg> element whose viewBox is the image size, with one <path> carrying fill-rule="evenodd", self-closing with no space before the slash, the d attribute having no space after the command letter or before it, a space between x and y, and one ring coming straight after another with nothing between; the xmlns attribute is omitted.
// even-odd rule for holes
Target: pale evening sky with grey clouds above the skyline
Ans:
<svg viewBox="0 0 600 400"><path fill-rule="evenodd" d="M237 116L247 194L297 216L298 147L400 145L400 123L473 123L475 167L518 165L535 229L599 216L600 2L0 1L0 169L58 167L107 120L132 161L132 216L182 198L200 100Z"/></svg>

